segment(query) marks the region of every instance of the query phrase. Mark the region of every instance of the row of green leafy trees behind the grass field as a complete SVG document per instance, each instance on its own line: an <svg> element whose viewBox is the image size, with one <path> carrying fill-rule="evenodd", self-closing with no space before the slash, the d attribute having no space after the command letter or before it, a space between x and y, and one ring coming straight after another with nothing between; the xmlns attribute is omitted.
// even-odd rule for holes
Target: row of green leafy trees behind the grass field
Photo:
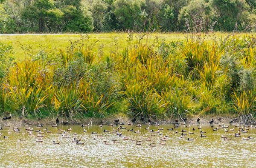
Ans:
<svg viewBox="0 0 256 168"><path fill-rule="evenodd" d="M255 31L256 0L0 0L0 33Z"/></svg>

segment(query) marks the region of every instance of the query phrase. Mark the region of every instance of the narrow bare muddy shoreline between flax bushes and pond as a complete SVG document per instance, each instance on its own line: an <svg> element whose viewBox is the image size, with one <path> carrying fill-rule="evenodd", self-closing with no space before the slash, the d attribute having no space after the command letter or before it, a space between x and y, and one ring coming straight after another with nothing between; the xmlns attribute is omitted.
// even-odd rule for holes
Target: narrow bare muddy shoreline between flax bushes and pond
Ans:
<svg viewBox="0 0 256 168"><path fill-rule="evenodd" d="M3 117L1 117L2 119ZM200 124L209 124L210 120L214 120L213 124L229 124L231 120L233 120L233 124L235 123L239 123L239 121L236 120L236 116L235 115L225 115L225 116L221 116L221 115L204 115L199 117L200 118ZM80 124L92 124L92 125L99 125L99 124L111 124L114 123L114 120L119 119L119 123L128 123L131 122L131 119L124 116L124 115L115 115L115 116L111 116L111 117L107 117L104 119L100 119L100 118L87 118L87 119L79 119L79 120L65 120L65 119L60 119L60 125L62 124L62 122L66 122L68 121L67 125L80 125ZM186 120L186 124L198 124L197 122L198 117L188 117ZM219 120L221 119L221 120ZM20 119L18 117L12 117L11 120L0 120L0 126L5 126L5 125L39 125L39 124L43 124L43 125L53 125L56 122L56 118L44 118L44 119L33 119L33 120L28 120L28 119ZM140 124L145 124L146 122L148 122L147 119L145 119L144 121L141 120L136 120L135 123L140 123ZM172 124L175 122L175 119L170 119L170 120L154 120L151 118L151 122L155 123L158 122L160 124L163 125L167 125L167 124ZM183 123L183 120L179 119L180 123Z"/></svg>

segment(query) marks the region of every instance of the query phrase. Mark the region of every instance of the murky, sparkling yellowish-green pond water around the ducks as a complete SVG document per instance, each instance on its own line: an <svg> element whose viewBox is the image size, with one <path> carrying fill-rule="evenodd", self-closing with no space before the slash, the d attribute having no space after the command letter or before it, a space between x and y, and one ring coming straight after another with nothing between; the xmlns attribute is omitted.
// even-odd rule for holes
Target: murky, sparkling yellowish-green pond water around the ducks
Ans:
<svg viewBox="0 0 256 168"><path fill-rule="evenodd" d="M43 142L35 142L38 135L33 131L34 136L29 136L24 127L20 128L20 133L14 132L9 127L4 127L0 131L0 167L36 167L36 168L113 168L113 167L256 167L256 129L250 128L247 133L241 133L241 137L234 137L238 132L238 127L229 125L228 132L224 129L213 131L209 125L191 125L187 128L181 125L175 131L169 131L167 128L173 128L173 125L150 125L149 128L157 131L163 127L160 133L151 133L145 130L148 125L136 127L136 125L122 125L127 129L121 132L128 140L112 132L112 126L99 127L93 125L82 128L81 125L59 125L58 127L44 126L41 130L48 128L52 133L44 131ZM207 131L207 137L200 137L200 129ZM217 127L218 125L215 125ZM39 130L32 126L34 130ZM67 131L72 128L72 131ZM134 128L140 133L127 131ZM195 128L195 131L192 131ZM235 131L230 131L234 128ZM63 139L58 134L58 129L67 131L70 138ZM83 130L87 130L84 132ZM103 132L103 130L110 132ZM180 138L181 130L184 129L187 135ZM92 131L98 134L91 134ZM188 132L195 132L188 134ZM74 135L77 133L77 135ZM154 135L154 136L151 136ZM166 145L160 145L161 138L166 138ZM224 140L221 135L232 138ZM3 136L8 136L4 139ZM242 137L255 137L250 140L242 140ZM193 141L187 141L187 138L194 138ZM25 142L19 139L25 139ZM72 142L73 138L81 138L84 145L77 145ZM148 139L151 141L148 141ZM119 143L113 143L112 140ZM136 145L136 141L141 140L141 145ZM59 145L54 145L53 141L59 141ZM105 145L103 141L107 141ZM149 144L155 142L155 147Z"/></svg>

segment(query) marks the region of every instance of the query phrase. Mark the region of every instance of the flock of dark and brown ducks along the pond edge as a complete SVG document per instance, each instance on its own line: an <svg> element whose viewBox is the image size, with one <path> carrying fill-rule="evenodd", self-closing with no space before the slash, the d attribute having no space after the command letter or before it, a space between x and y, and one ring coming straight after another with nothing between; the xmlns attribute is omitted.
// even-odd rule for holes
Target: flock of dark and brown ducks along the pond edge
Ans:
<svg viewBox="0 0 256 168"><path fill-rule="evenodd" d="M6 117L3 118L3 120L9 120L7 119ZM144 118L142 118L141 120L144 120ZM186 138L187 141L193 141L194 139L193 138L190 138L189 135L191 134L198 134L199 137L207 137L207 132L206 131L202 131L202 128L201 126L198 125L198 128L196 128L197 130L199 131L196 131L195 128L192 128L190 129L190 125L187 125L186 124L186 118L183 119L183 122L182 123L179 123L178 120L176 119L175 122L173 123L173 127L172 128L167 128L168 131L175 131L176 134L180 134L180 138ZM103 129L102 132L104 133L113 133L113 134L116 134L116 139L113 139L112 142L113 143L110 143L110 142L107 142L106 140L103 141L103 143L105 145L112 145L112 144L115 144L115 143L119 143L119 140L132 140L132 141L135 141L135 145L142 145L143 143L143 140L133 140L133 139L130 139L128 136L125 136L123 134L125 134L125 131L130 131L130 132L133 132L135 134L140 134L141 131L140 129L136 129L136 128L140 128L142 127L141 124L134 124L134 122L136 121L136 119L132 119L131 122L127 123L127 125L129 127L132 127L132 128L127 128L125 127L125 123L124 122L119 122L119 119L117 120L114 120L114 123L112 124L108 124L108 126L111 126L113 127L112 130L107 130L107 129ZM198 123L200 121L200 119L198 118ZM247 133L249 129L256 129L256 125L235 125L235 127L237 128L237 132L235 133L235 128L232 128L232 129L228 129L229 126L228 125L218 125L217 127L215 125L213 125L213 122L214 120L210 120L209 121L209 124L210 126L212 127L212 131L218 131L219 129L223 129L225 132L228 132L228 131L232 131L234 132L234 137L241 137L241 134L243 133ZM66 124L68 122L65 122L63 124ZM150 125L153 125L153 123L151 122L150 119L148 119L148 122L146 122L146 124L148 125L147 128L145 128L145 130L147 130L150 134L150 136L155 136L155 135L160 135L161 138L160 138L160 145L166 145L166 141L168 140L169 136L166 134L166 135L163 135L163 130L164 128L160 128L160 124L155 122L154 123L154 126L157 126L157 130L154 130L154 129L151 129L150 128ZM232 122L230 122L230 125L232 124ZM55 125L52 125L52 127L58 127L59 125L59 120L56 119L56 124ZM182 129L180 132L177 130L177 128L180 127L180 125L184 125L184 129ZM9 125L5 125L5 127L8 127L9 128L9 131L8 133L9 134L12 134L12 132L15 132L15 133L20 133L21 130L20 128L18 127L10 127ZM85 129L85 127L89 128L90 127L90 124L86 124L86 125L81 125L81 129L83 129L83 132L87 132L87 129ZM99 127L103 127L103 125L99 125ZM189 130L185 130L185 128L189 128ZM176 130L175 130L176 129ZM3 130L3 127L0 127L0 131ZM70 138L70 134L72 132L72 128L69 128L67 130L62 130L62 129L58 129L57 131L57 134L60 134L60 137L62 139L69 139ZM25 131L22 131L22 134L28 134L29 136L33 136L35 137L35 142L44 142L43 138L44 138L44 134L51 134L52 131L49 131L48 128L44 128L44 126L42 124L40 125L37 125L36 126L36 130L34 130L33 128L29 127L29 125L26 125L25 126ZM1 139L1 136L2 136L3 133L0 132L0 139ZM97 132L95 131L92 131L90 134L98 134ZM74 136L78 135L76 133L73 133ZM102 137L102 135L99 135L97 137ZM119 138L119 139L118 139ZM224 135L221 135L221 137L223 140L232 140L231 137L227 137L227 136L224 136ZM8 136L3 136L3 139L8 139ZM71 142L74 142L76 143L77 145L84 145L84 142L83 140L79 139L79 138L70 138L72 139ZM250 139L253 139L253 137L242 137L241 140L250 140ZM96 140L96 137L93 138L93 140ZM19 141L26 141L26 139L19 139ZM152 142L152 139L151 138L147 138L146 140L144 141L148 141L150 142L149 146L151 147L154 147L156 146L156 142ZM52 142L53 144L55 145L58 145L60 144L61 142L58 141L58 140L55 140Z"/></svg>

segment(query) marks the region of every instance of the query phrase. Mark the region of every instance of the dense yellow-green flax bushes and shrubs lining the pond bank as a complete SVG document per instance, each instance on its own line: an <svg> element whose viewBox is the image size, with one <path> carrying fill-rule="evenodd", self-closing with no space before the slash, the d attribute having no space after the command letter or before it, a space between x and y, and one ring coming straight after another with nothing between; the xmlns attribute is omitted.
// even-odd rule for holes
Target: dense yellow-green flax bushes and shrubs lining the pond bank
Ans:
<svg viewBox="0 0 256 168"><path fill-rule="evenodd" d="M255 122L255 37L207 43L206 35L192 34L147 44L145 36L134 43L128 34L127 48L105 57L81 36L57 55L42 51L14 64L12 48L0 44L0 113L72 119L233 113Z"/></svg>

